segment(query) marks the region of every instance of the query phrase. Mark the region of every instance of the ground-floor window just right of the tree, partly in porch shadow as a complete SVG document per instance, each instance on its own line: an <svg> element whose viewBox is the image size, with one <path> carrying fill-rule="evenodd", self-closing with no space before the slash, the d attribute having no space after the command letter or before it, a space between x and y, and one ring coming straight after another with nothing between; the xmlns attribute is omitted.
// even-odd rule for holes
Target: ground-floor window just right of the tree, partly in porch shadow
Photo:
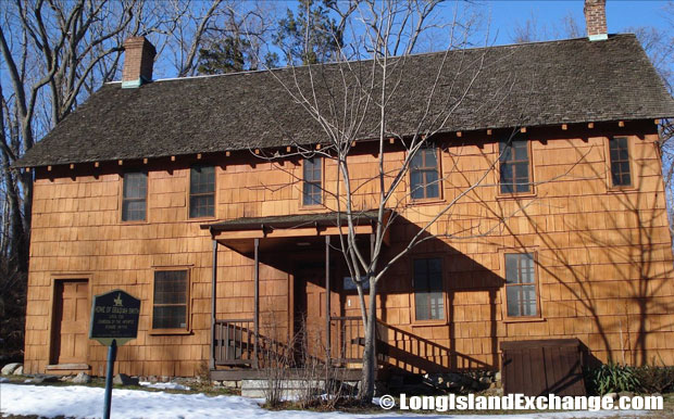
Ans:
<svg viewBox="0 0 674 419"><path fill-rule="evenodd" d="M439 258L414 261L414 307L416 320L445 319L442 262Z"/></svg>

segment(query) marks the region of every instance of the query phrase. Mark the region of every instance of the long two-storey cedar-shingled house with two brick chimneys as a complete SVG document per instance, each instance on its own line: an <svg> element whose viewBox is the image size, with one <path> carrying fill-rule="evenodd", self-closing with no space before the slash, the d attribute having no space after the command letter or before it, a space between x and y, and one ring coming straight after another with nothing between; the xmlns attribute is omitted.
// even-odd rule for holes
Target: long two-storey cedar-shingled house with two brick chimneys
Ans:
<svg viewBox="0 0 674 419"><path fill-rule="evenodd" d="M459 63L484 67L387 214L385 256L461 196L430 230L452 237L416 246L382 281L385 365L495 370L503 342L566 338L601 361L674 365L658 136L674 101L634 35L588 16L587 38L401 61L397 132L414 129L442 63L452 79L475 74ZM360 303L330 245L339 228L325 193L336 167L294 153L324 134L279 82L307 82L309 69L152 81L153 55L129 39L122 82L16 165L35 176L25 371L103 374L88 318L92 296L113 289L142 302L120 372L251 377L301 329L315 333L311 355L357 368ZM313 71L329 84L336 69ZM404 156L399 139L384 152L392 167ZM376 147L363 138L349 158L366 250Z"/></svg>

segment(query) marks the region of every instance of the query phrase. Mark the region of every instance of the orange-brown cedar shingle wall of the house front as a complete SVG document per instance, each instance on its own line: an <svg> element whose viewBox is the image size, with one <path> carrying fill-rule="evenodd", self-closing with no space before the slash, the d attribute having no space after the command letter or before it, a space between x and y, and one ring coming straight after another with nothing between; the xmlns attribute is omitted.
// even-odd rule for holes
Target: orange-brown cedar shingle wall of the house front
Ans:
<svg viewBox="0 0 674 419"><path fill-rule="evenodd" d="M674 364L672 252L656 139L629 138L636 188L625 192L608 190L607 140L587 134L532 142L535 196L497 198L496 174L489 174L482 187L459 201L451 217L432 228L455 237L430 240L414 251L417 257L442 257L447 317L453 321L414 321L409 259L384 280L379 318L395 329L383 333L400 350L391 353L390 363L412 371L432 368L425 360L490 368L498 367L500 341L577 337L601 360L611 353L617 361L654 358ZM437 214L497 156L498 144L460 140L441 153L445 201L397 208L409 224L392 231L391 254L416 231L415 224ZM389 155L387 167L395 168L402 153ZM376 183L369 181L376 170L373 158L363 154L350 162L354 185L361 186L357 202L363 207L375 202ZM304 211L296 181L301 167L294 162L259 163L217 166L217 219ZM54 278L89 278L92 294L124 288L143 301L139 337L117 355L121 372L197 373L209 358L211 240L199 229L203 220L186 221L188 169L150 170L149 220L129 225L120 223L118 175L75 180L46 175L38 174L35 183L26 371L43 372L49 363ZM330 164L325 176L329 186L336 176ZM498 221L501 217L504 224ZM540 321L503 320L503 252L510 247L536 253ZM148 332L153 270L166 266L190 268L191 334ZM219 266L217 317L252 318L252 261L223 250ZM283 335L289 274L263 265L261 279L263 330L273 327ZM345 304L342 314L357 315L357 305ZM103 373L105 347L91 341L93 373Z"/></svg>

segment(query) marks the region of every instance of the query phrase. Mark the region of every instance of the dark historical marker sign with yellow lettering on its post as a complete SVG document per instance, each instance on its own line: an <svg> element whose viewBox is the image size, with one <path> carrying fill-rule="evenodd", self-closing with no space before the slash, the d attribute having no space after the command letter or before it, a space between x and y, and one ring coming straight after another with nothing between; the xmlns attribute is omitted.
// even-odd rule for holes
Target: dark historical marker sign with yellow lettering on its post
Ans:
<svg viewBox="0 0 674 419"><path fill-rule="evenodd" d="M91 305L91 328L89 339L108 346L108 368L105 374L105 405L103 419L110 419L112 401L112 376L117 346L138 335L140 300L122 290L113 290L96 295Z"/></svg>

